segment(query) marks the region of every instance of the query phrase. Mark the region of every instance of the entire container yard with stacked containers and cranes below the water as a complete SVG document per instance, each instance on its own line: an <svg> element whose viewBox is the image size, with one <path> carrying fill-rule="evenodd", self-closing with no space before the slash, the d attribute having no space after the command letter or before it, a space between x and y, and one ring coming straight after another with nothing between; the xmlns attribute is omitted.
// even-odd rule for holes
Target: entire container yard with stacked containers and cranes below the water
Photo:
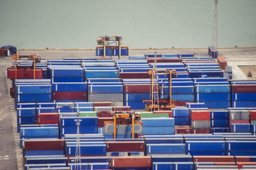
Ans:
<svg viewBox="0 0 256 170"><path fill-rule="evenodd" d="M17 52L0 169L256 169L255 48Z"/></svg>

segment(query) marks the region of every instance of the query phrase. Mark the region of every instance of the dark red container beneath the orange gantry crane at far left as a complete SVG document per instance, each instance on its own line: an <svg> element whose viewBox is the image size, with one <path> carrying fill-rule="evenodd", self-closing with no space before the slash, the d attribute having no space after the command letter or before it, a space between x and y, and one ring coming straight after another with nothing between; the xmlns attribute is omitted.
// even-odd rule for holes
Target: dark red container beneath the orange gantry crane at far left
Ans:
<svg viewBox="0 0 256 170"><path fill-rule="evenodd" d="M15 68L7 68L7 78L15 79ZM35 78L43 79L42 68L35 68ZM34 79L34 70L30 68L19 68L17 69L17 79Z"/></svg>

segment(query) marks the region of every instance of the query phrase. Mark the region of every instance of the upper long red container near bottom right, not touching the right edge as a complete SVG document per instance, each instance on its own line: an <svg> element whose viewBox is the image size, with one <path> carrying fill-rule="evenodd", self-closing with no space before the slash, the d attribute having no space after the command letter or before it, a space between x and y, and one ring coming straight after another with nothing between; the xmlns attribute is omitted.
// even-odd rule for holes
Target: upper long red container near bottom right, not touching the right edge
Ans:
<svg viewBox="0 0 256 170"><path fill-rule="evenodd" d="M234 156L193 156L194 162L235 162Z"/></svg>

